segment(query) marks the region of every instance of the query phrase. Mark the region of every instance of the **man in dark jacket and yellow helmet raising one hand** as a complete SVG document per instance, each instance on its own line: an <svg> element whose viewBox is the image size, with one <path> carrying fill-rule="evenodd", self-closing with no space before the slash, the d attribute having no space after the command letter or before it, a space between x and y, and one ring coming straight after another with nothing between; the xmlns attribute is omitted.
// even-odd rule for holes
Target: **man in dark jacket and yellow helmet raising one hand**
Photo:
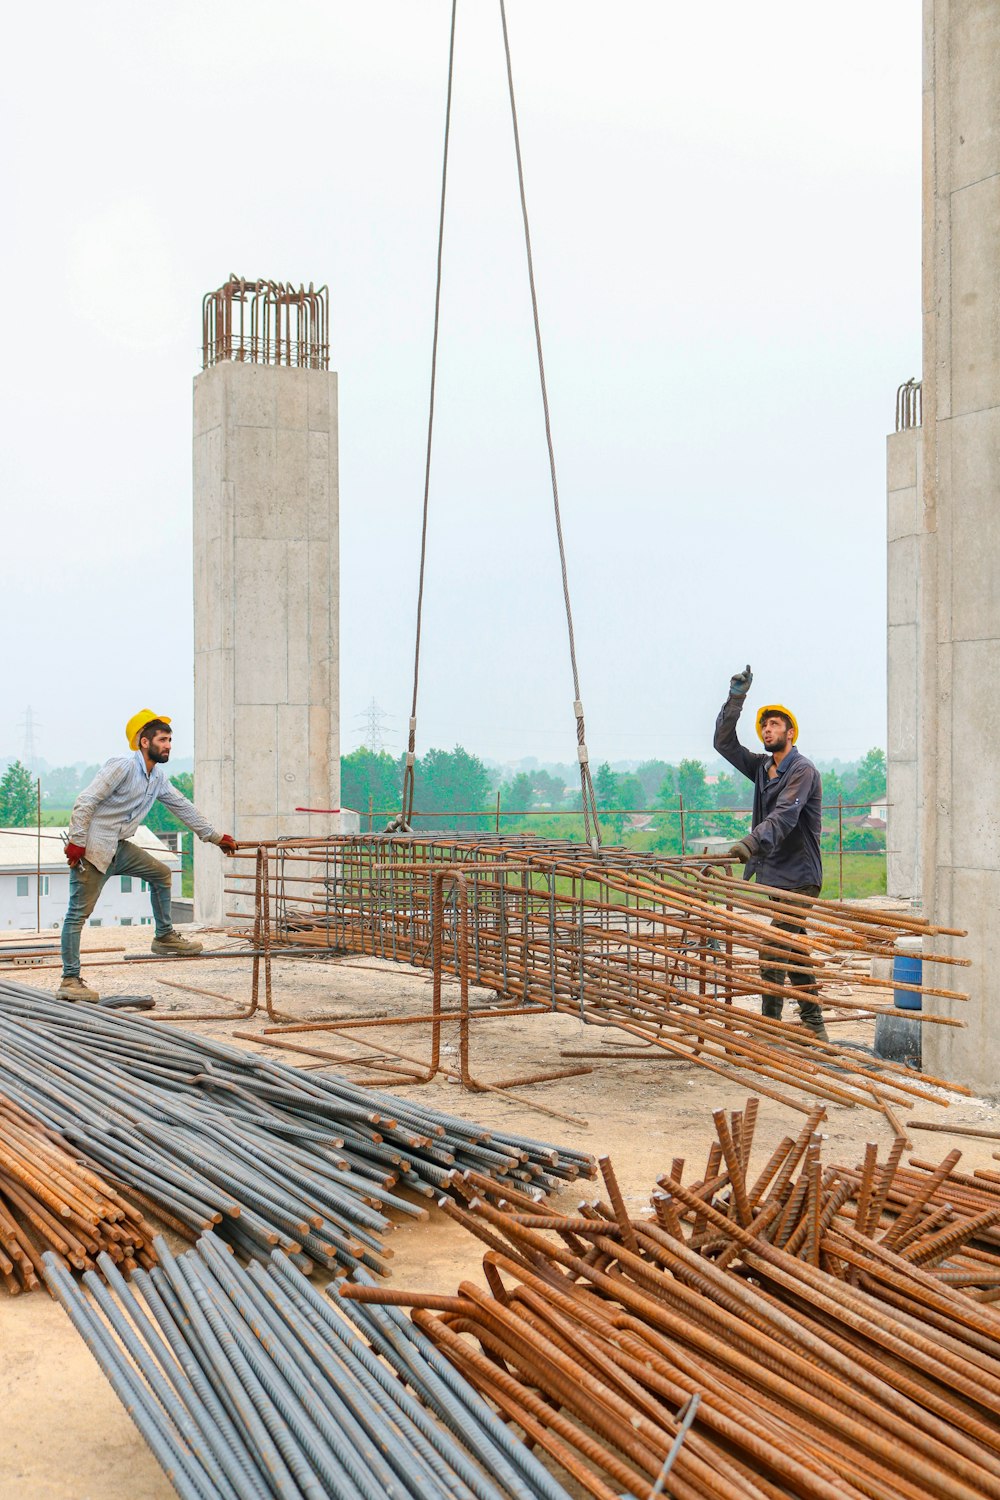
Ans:
<svg viewBox="0 0 1000 1500"><path fill-rule="evenodd" d="M757 711L757 738L763 754L747 750L736 738L736 723L744 711L754 675L750 666L738 672L729 684L729 698L715 720L715 748L748 782L754 783L751 831L733 844L730 855L744 866L744 879L757 879L792 896L816 897L823 886L820 828L823 782L811 760L796 747L799 726L784 704L765 704ZM771 900L783 900L772 896ZM772 924L780 932L799 936L805 932L793 916L783 915ZM816 978L807 968L793 968L795 950L778 948L760 954L760 978L765 984L784 988L786 975L796 990L817 994ZM781 962L784 960L784 962ZM802 962L802 960L799 960ZM763 994L760 1011L769 1020L781 1020L784 1000L778 994ZM799 1017L820 1041L829 1041L823 1024L823 1010L814 1000L799 1000Z"/></svg>

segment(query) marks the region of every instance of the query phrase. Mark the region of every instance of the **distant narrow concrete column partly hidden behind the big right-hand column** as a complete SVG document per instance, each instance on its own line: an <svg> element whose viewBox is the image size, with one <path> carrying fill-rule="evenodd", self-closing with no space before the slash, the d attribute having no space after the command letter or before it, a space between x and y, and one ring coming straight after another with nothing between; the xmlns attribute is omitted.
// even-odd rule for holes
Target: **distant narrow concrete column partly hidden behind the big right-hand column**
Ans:
<svg viewBox="0 0 1000 1500"><path fill-rule="evenodd" d="M886 531L889 644L889 740L886 746L889 896L921 896L919 729L921 729L921 429L891 434L886 444Z"/></svg>

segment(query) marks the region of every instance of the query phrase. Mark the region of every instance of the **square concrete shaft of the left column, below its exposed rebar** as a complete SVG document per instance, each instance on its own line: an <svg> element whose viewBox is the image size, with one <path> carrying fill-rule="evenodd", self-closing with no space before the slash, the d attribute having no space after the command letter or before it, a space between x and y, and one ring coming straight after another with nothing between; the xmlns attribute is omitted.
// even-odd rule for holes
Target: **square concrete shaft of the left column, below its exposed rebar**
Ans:
<svg viewBox="0 0 1000 1500"><path fill-rule="evenodd" d="M195 380L195 794L237 838L337 831L337 376L226 363ZM195 920L226 867L195 844ZM244 867L246 868L246 867Z"/></svg>

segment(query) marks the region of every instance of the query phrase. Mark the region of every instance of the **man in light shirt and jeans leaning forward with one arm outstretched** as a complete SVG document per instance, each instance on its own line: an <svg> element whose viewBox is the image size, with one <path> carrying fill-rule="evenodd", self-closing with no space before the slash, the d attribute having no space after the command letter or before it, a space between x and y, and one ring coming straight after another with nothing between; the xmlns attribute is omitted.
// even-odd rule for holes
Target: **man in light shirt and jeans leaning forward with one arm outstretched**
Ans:
<svg viewBox="0 0 1000 1500"><path fill-rule="evenodd" d="M201 944L181 938L171 921L171 872L147 849L129 843L153 802L163 802L181 824L223 854L235 850L231 834L219 834L183 796L162 770L169 760L169 718L151 708L132 714L124 726L130 754L106 760L76 801L69 816L66 860L69 862L69 908L63 921L63 978L60 1000L97 1000L99 994L79 978L79 933L112 874L145 880L156 920L151 951L165 958L201 952Z"/></svg>

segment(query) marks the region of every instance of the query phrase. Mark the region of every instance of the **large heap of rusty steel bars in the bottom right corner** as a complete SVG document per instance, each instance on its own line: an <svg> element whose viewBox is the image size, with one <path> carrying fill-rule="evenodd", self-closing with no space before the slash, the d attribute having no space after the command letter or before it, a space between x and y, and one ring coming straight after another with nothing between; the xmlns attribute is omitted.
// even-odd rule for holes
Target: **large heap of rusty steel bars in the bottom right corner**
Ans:
<svg viewBox="0 0 1000 1500"><path fill-rule="evenodd" d="M894 1203L898 1150L838 1180L816 1155L819 1113L751 1180L756 1101L717 1112L706 1179L685 1186L675 1161L649 1216L627 1212L609 1161L607 1202L576 1214L469 1176L448 1212L489 1245L489 1290L340 1298L412 1306L456 1371L600 1500L655 1492L694 1395L672 1494L997 1500L1000 1312L969 1288L996 1286L1000 1198L934 1208L948 1156Z"/></svg>

